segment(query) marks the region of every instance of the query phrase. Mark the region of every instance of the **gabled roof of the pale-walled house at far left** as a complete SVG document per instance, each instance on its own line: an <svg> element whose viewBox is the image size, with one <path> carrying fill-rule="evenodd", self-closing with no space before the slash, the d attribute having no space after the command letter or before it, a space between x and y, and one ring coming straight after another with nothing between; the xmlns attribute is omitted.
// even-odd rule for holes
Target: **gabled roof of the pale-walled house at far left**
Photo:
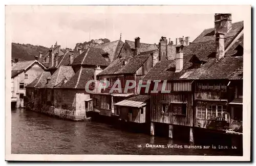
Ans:
<svg viewBox="0 0 256 166"><path fill-rule="evenodd" d="M27 70L29 67L31 67L33 64L38 64L41 66L41 68L45 69L46 67L39 63L37 60L30 60L30 61L20 61L15 63L12 66L12 76L11 78L17 76L18 74L22 73L23 71Z"/></svg>

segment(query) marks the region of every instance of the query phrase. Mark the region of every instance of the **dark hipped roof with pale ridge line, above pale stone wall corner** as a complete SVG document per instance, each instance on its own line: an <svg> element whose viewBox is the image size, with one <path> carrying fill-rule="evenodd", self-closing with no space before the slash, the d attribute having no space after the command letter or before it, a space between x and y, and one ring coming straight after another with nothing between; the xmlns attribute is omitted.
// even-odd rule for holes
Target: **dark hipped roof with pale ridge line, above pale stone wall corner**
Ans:
<svg viewBox="0 0 256 166"><path fill-rule="evenodd" d="M89 80L93 80L94 69L81 68L74 76L72 76L67 83L60 86L60 88L75 88L85 89L86 83Z"/></svg>

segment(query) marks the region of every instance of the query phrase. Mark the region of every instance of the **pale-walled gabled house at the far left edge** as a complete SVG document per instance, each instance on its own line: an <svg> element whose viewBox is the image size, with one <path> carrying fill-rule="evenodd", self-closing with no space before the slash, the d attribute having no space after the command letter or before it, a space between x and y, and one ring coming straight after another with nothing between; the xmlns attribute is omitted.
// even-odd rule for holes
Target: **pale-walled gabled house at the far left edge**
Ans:
<svg viewBox="0 0 256 166"><path fill-rule="evenodd" d="M24 107L26 86L37 78L46 67L37 60L20 61L12 66L11 94L12 107Z"/></svg>

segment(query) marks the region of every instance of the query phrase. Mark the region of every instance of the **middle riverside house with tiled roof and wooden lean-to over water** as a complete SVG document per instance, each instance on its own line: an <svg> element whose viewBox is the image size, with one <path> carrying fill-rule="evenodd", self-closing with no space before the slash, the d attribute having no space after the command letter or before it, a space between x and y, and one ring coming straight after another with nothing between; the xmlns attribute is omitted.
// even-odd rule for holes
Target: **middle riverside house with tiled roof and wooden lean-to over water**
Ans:
<svg viewBox="0 0 256 166"><path fill-rule="evenodd" d="M146 122L145 117L146 112L148 111L148 109L146 110L146 104L150 105L150 103L147 103L147 97L145 97L147 102L137 101L135 99L136 97L134 97L139 94L137 86L131 89L124 88L125 84L129 80L133 80L136 82L136 84L138 84L139 81L142 80L142 78L152 68L155 53L158 55L157 48L154 48L155 50L152 50L151 48L149 50L144 49L143 52L140 52L140 46L139 37L135 38L134 49L131 49L128 42L125 41L119 57L97 75L98 80L107 80L110 83L109 87L101 89L101 91L96 91L96 93L91 95L93 98L94 110L100 112L100 115L109 117L115 116L120 120L129 120L129 122ZM120 82L121 87L120 90L112 91L111 88L115 86L115 82ZM134 103L134 105L125 105L124 100L131 97L134 97L135 101L130 100ZM136 107L136 103L145 104L137 105L138 107ZM131 117L135 117L137 115L138 117L127 118L127 116L124 116L124 114L121 115L122 110L124 110L124 113L127 110L127 107L129 107L133 112ZM139 109L144 109L144 111L141 110L138 112Z"/></svg>

